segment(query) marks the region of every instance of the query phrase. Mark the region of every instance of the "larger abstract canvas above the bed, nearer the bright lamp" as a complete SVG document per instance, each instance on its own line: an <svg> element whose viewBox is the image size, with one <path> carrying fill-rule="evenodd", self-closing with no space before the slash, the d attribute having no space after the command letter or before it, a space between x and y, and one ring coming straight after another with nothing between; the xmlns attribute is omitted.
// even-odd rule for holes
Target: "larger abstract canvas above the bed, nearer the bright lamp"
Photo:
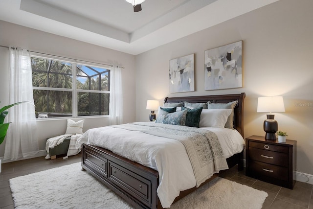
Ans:
<svg viewBox="0 0 313 209"><path fill-rule="evenodd" d="M204 90L243 87L242 41L204 51Z"/></svg>

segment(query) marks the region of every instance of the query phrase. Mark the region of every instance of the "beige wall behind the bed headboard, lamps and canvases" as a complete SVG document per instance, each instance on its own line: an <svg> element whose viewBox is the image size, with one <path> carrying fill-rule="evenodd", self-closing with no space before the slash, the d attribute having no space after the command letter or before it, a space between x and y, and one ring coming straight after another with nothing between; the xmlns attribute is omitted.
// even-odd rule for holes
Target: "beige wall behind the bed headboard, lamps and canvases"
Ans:
<svg viewBox="0 0 313 209"><path fill-rule="evenodd" d="M297 169L313 175L312 8L312 0L280 0L137 55L136 120L148 121L147 99L161 104L165 96L245 92L245 137L263 136L266 113L256 112L257 98L282 95L286 112L275 114L279 130L288 132L287 139L297 140ZM243 88L204 91L204 50L240 40ZM169 60L192 53L195 92L169 93Z"/></svg>

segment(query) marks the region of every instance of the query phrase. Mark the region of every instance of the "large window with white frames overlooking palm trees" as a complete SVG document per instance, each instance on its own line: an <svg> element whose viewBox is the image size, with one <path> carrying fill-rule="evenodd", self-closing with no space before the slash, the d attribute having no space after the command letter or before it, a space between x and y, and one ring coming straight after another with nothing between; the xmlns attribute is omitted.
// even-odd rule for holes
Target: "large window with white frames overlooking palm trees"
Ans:
<svg viewBox="0 0 313 209"><path fill-rule="evenodd" d="M110 68L31 55L37 118L109 115Z"/></svg>

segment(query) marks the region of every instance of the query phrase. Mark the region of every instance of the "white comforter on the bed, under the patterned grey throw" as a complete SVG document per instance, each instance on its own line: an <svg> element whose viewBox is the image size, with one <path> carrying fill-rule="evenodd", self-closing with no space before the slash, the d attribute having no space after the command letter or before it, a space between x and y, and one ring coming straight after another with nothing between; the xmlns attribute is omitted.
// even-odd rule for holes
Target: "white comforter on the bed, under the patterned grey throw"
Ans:
<svg viewBox="0 0 313 209"><path fill-rule="evenodd" d="M236 130L203 128L218 136L225 158L244 149L245 140ZM163 208L170 208L180 191L196 186L186 149L177 140L107 126L89 129L77 140L76 148L83 143L104 147L157 170L159 173L157 195Z"/></svg>

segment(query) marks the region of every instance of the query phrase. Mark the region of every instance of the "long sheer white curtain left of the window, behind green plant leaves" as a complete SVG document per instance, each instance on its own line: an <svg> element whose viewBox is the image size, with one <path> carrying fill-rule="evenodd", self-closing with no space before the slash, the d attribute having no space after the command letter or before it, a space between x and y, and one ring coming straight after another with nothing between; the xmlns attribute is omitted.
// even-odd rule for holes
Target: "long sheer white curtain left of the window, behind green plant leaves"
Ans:
<svg viewBox="0 0 313 209"><path fill-rule="evenodd" d="M9 104L29 101L9 109L11 122L6 135L4 160L17 160L38 153L38 136L32 88L30 55L26 49L9 47Z"/></svg>

